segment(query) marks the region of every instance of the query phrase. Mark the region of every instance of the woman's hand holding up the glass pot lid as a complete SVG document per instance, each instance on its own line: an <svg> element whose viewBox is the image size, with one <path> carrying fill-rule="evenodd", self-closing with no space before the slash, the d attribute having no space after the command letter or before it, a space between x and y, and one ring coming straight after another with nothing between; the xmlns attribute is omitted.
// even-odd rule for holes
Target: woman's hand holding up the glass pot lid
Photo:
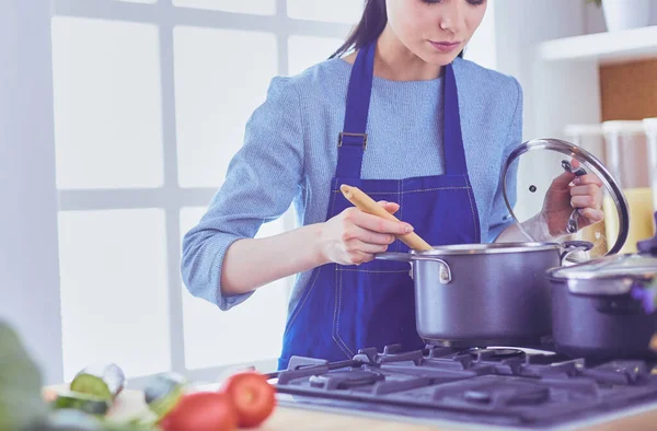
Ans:
<svg viewBox="0 0 657 431"><path fill-rule="evenodd" d="M573 160L573 168L579 162ZM602 182L593 174L576 176L569 172L554 178L543 202L543 217L550 235L558 237L570 234L567 231L568 219L577 209L579 230L596 224L604 218L602 208Z"/></svg>

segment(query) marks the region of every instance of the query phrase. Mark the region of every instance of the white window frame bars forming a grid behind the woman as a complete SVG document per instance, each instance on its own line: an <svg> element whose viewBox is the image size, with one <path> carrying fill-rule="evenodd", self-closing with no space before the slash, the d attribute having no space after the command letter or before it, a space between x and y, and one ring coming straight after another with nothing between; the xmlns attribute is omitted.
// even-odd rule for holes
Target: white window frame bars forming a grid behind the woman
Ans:
<svg viewBox="0 0 657 431"><path fill-rule="evenodd" d="M276 14L274 15L181 8L173 5L171 0L158 0L154 4L116 0L51 0L51 2L54 16L146 23L157 25L159 28L164 158L163 186L142 189L59 190L59 210L164 209L166 217L171 369L194 381L216 380L217 375L227 366L189 370L185 365L183 298L180 276L182 247L180 211L184 207L206 207L216 194L217 188L183 188L178 186L173 30L177 25L185 25L273 33L276 35L278 45L277 73L286 75L288 74L289 36L344 37L349 32L350 25L290 19L287 15L286 0L276 0ZM293 226L292 213L288 212L285 215L284 229L290 230ZM291 289L291 278L289 280L288 288ZM221 312L217 310L217 313ZM272 358L270 360L250 363L250 365L270 371L276 368L276 359ZM134 378L131 382L134 385L139 386L148 377Z"/></svg>

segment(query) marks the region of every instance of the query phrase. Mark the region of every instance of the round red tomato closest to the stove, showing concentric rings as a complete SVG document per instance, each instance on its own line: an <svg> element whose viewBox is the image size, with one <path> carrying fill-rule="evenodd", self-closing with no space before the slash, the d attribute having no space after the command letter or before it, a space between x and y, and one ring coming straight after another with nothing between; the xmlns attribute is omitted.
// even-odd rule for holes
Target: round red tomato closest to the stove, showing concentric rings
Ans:
<svg viewBox="0 0 657 431"><path fill-rule="evenodd" d="M257 427L276 407L276 391L267 377L255 371L231 375L222 386L238 412L238 424Z"/></svg>

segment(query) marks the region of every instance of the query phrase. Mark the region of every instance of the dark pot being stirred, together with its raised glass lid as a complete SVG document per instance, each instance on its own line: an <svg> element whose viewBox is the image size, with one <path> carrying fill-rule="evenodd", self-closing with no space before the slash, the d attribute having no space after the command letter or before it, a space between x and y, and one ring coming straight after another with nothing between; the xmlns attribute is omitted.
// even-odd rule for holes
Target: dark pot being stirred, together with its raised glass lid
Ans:
<svg viewBox="0 0 657 431"><path fill-rule="evenodd" d="M583 166L584 172L577 175L596 174L606 186L609 201L615 205L620 229L613 243L608 236L596 235L592 241L580 241L586 238L584 232L565 237L564 242L540 242L523 229L522 214L529 218L542 208L544 195L535 193L546 193L552 179L570 166L572 159ZM509 175L519 168L538 172L541 166L552 171L537 174L535 183L532 179L529 187L517 187L515 175ZM427 343L481 347L538 346L549 341L554 303L545 272L602 253L616 254L627 237L627 205L618 183L599 160L569 142L525 142L507 159L502 180L510 215L528 242L428 246L376 255L377 259L411 264L417 333ZM539 206L532 209L532 202Z"/></svg>

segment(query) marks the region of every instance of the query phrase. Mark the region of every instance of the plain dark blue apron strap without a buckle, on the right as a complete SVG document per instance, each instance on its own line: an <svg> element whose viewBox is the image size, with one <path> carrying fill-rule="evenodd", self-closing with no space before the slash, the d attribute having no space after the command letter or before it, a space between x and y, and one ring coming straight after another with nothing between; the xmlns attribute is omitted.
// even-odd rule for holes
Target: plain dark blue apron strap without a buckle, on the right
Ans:
<svg viewBox="0 0 657 431"><path fill-rule="evenodd" d="M465 150L461 133L459 94L457 79L451 63L445 67L445 114L442 120L442 147L445 148L445 173L466 175Z"/></svg>

